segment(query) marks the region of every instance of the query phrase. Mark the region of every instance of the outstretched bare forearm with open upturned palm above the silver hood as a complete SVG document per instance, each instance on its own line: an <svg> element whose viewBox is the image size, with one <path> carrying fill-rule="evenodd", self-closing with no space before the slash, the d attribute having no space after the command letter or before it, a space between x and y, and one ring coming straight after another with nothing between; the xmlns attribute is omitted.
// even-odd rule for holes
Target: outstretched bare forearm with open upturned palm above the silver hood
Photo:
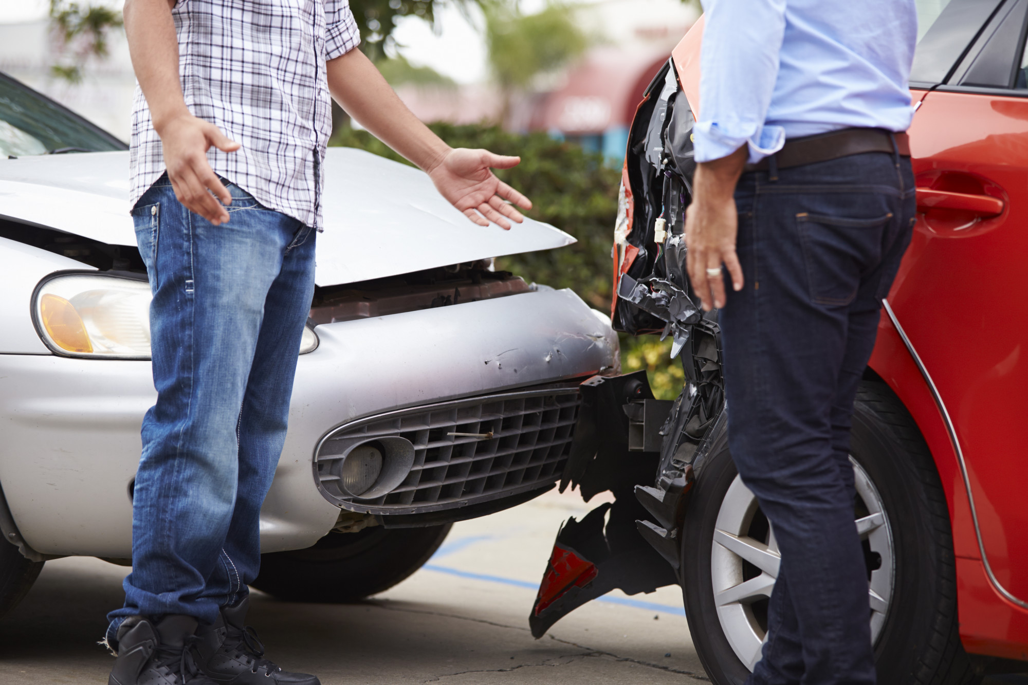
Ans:
<svg viewBox="0 0 1028 685"><path fill-rule="evenodd" d="M498 179L492 169L510 169L520 157L488 150L453 149L421 123L400 101L375 66L359 49L328 62L328 86L336 102L376 138L428 172L439 192L475 223L493 221L510 228L531 203Z"/></svg>

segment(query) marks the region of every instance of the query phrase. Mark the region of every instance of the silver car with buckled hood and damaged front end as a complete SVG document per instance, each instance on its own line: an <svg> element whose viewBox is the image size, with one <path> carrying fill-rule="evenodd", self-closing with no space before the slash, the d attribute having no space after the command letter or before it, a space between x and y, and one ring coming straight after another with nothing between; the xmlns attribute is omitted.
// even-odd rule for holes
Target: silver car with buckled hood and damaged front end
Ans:
<svg viewBox="0 0 1028 685"><path fill-rule="evenodd" d="M45 560L130 563L156 394L124 144L0 74L0 152L2 613ZM426 175L361 150L325 164L318 288L254 584L347 601L413 573L452 521L552 488L579 384L619 356L574 292L493 271L572 237L478 227Z"/></svg>

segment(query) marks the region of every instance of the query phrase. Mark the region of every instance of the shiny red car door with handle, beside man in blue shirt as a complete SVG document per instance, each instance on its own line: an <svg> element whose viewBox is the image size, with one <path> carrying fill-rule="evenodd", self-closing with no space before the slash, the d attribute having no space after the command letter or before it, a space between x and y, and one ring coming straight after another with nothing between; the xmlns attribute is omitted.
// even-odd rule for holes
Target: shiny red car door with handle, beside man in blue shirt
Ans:
<svg viewBox="0 0 1028 685"><path fill-rule="evenodd" d="M986 572L1022 606L1028 606L1026 26L1028 0L1002 3L945 84L921 101L911 129L919 214L888 298L951 420Z"/></svg>

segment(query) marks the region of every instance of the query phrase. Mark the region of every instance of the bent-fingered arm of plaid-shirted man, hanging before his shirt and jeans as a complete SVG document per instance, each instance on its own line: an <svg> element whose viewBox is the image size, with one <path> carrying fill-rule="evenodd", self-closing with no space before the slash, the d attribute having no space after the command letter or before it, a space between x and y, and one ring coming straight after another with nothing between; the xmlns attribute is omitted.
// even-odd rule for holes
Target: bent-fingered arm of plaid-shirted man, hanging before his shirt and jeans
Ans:
<svg viewBox="0 0 1028 685"><path fill-rule="evenodd" d="M153 117L153 129L160 136L175 196L211 223L224 223L228 212L215 196L225 205L232 202L232 196L211 170L207 151L214 145L234 152L240 144L186 108L179 81L179 41L171 9L174 4L175 0L125 1L128 52Z"/></svg>

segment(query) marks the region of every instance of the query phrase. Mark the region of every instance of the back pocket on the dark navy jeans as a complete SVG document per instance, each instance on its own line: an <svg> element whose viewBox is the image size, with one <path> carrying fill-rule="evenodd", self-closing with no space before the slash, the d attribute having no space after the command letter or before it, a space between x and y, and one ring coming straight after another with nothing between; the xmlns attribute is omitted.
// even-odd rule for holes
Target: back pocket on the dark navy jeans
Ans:
<svg viewBox="0 0 1028 685"><path fill-rule="evenodd" d="M869 219L796 215L810 299L816 304L845 305L853 301L865 274L882 258L882 231L892 213Z"/></svg>

